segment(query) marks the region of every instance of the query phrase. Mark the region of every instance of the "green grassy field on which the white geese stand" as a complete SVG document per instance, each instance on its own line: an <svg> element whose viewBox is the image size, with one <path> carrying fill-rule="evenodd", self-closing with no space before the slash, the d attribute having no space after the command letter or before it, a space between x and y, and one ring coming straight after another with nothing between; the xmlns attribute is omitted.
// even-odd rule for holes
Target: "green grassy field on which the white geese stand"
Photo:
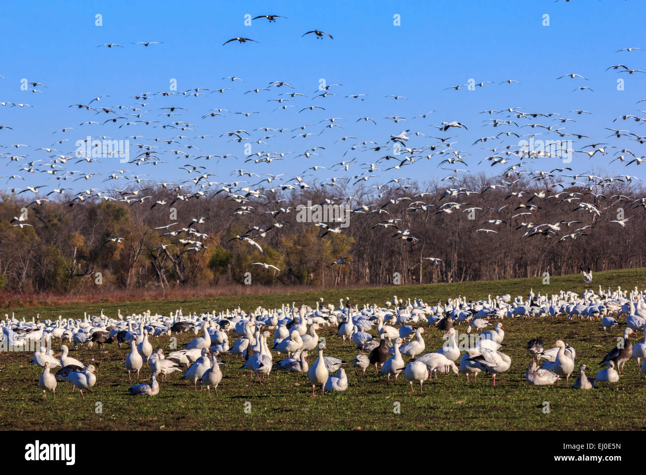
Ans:
<svg viewBox="0 0 646 475"><path fill-rule="evenodd" d="M467 282L463 284L428 284L422 286L390 286L360 290L322 291L317 293L286 293L244 297L220 297L187 301L141 301L102 303L83 306L9 308L4 311L16 317L31 319L39 314L41 319L83 317L83 312L97 315L101 308L110 316L117 309L126 313L151 310L167 313L182 307L189 311L223 310L238 304L244 310L256 306L280 307L280 304L306 303L314 306L316 299L338 304L340 298L349 297L351 304L377 302L383 305L393 295L399 298L422 298L429 303L438 299L446 301L458 294L467 299L486 299L488 294L510 293L527 295L530 288L535 293L556 293L559 290L584 290L581 275L551 277L550 284L542 279L514 279L495 282ZM643 288L646 269L629 269L596 273L594 289ZM4 317L4 315L2 315ZM497 377L492 386L491 377L484 374L477 383L467 385L464 375L439 375L438 379L424 383L424 394L419 386L410 394L410 386L403 375L397 386L386 386L385 378L368 370L365 376L354 374L351 364L346 372L349 388L346 392L326 393L324 397L311 398L311 386L306 375L273 371L263 383L252 381L249 373L240 369L241 363L234 355L222 359L224 379L218 388L219 396L195 392L193 384L180 381L181 374L172 374L161 383L160 394L154 397L132 397L127 393L131 384L123 367L129 348L120 349L116 344L103 350L73 350L70 355L96 366L98 382L95 394L81 400L78 392L71 394L69 383L59 383L56 401L49 394L43 399L38 388L41 368L28 364L32 354L0 354L0 428L2 429L462 429L462 430L625 430L646 427L643 414L646 410L646 386L643 375L634 360L626 364L618 383L590 391L574 390L572 375L570 385L561 381L556 386L535 387L525 381L525 370L530 357L526 342L533 337L543 337L546 346L563 339L577 351L577 363L589 367L589 377L600 369L599 361L616 344L616 337L623 328L613 328L603 333L601 323L568 321L564 317L551 319L506 319L505 346L503 351L512 358L508 372ZM466 327L459 328L459 332ZM353 345L341 344L336 328L318 332L326 337L326 355L339 357L351 363L358 350ZM376 331L371 332L376 334ZM641 340L641 335L633 338ZM178 344L194 338L180 335ZM233 343L234 338L231 339ZM426 352L435 351L443 344L441 332L428 328L424 334ZM152 339L154 349L169 349L169 337ZM271 341L269 342L271 345ZM56 345L57 347L58 345ZM57 348L56 348L57 349ZM312 363L315 357L310 357ZM274 361L278 361L274 354ZM149 367L144 366L141 379L148 380ZM100 402L102 411L98 412ZM251 403L251 412L245 407ZM399 403L399 404L397 404ZM545 408L548 403L549 412ZM397 413L394 409L400 406Z"/></svg>

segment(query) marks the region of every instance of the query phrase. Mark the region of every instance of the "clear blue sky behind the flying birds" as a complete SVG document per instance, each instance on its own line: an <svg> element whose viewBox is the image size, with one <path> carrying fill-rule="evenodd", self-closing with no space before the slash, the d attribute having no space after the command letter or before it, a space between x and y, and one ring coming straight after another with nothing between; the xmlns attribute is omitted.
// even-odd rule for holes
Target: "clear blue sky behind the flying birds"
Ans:
<svg viewBox="0 0 646 475"><path fill-rule="evenodd" d="M3 35L0 48L0 101L29 103L33 108L0 107L0 125L9 125L13 130L0 131L0 145L26 143L28 149L0 149L6 153L26 153L29 160L43 159L51 162L46 153L36 151L47 147L55 140L70 138L70 142L57 146L61 153L70 153L75 147L67 145L87 135L107 135L112 138L127 138L130 134L142 134L145 138L171 137L175 134L196 136L213 135L212 140L184 140L194 143L202 154L233 153L238 160L229 159L214 164L213 160L200 164L207 166L215 176L211 180L229 181L230 171L238 168L256 173L286 173L287 177L304 171L311 165L328 166L341 160L348 142L334 143L344 135L357 136L359 140L375 140L380 144L390 134L404 129L421 131L426 135L447 136L438 133L431 124L458 120L468 126L468 131L450 131L459 143L455 149L473 155L465 158L470 171L503 171L502 165L493 169L486 164L476 164L488 154L471 143L481 136L502 130L519 134L534 131L529 127L483 127L485 116L478 112L485 109L523 107L526 112L558 112L561 117L570 117L576 123L567 123L568 131L590 135L587 142L610 142L632 149L643 155L644 147L635 142L607 140L603 127L629 129L646 135L646 127L634 122L612 120L620 114L640 115L638 109L646 109L646 74L618 74L605 71L609 65L623 63L630 69L646 70L646 51L620 52L620 48L646 48L643 36L643 17L646 4L639 1L464 1L420 2L419 5L401 5L397 2L342 2L293 3L293 2L51 2L41 4L5 3L3 9ZM103 26L95 25L95 15L101 14ZM276 23L257 19L251 26L244 25L245 14L278 14ZM401 26L393 25L393 15L401 16ZM543 26L543 15L550 16L550 26ZM313 35L301 37L314 28L329 32L319 40ZM231 37L245 36L259 43L222 43ZM136 41L163 41L160 45L143 47L132 45ZM101 43L118 43L124 48L97 48ZM589 78L558 79L566 73L576 72ZM221 79L239 76L244 82ZM39 87L43 94L20 89L20 80L39 81L47 87ZM320 78L328 84L342 83L331 92L337 96L317 98ZM468 79L494 81L475 91L463 88L458 91L443 90L453 85L464 84ZM625 90L618 91L616 80L625 79ZM173 116L195 124L193 131L165 131L139 124L132 127L117 125L85 125L87 120L105 120L106 114L79 111L68 108L74 103L87 104L101 94L104 98L93 106L114 107L136 105L132 99L140 92L169 90L169 81L177 79L178 90L205 87L211 90L232 87L224 94L207 96L161 98L155 96L148 102L145 118L164 120L158 117L160 107L184 107L181 116ZM516 79L519 84L503 84L505 79ZM295 87L294 91L306 94L291 102L294 108L275 111L277 103L267 100L278 98L286 88L271 88L259 94L243 94L245 90L267 87L269 81L281 80ZM575 87L585 85L589 90L573 92ZM291 90L290 90L291 91ZM364 93L363 101L344 98L348 94ZM384 98L388 94L406 96L407 100ZM286 97L286 96L280 96ZM304 111L302 107L322 105L326 111ZM641 107L643 106L643 107ZM214 107L229 109L225 118L200 117ZM568 113L572 109L585 109L592 115L577 116ZM414 116L435 110L426 119ZM249 118L235 115L236 111L260 111ZM121 112L120 115L125 115ZM392 123L386 116L404 116L406 121ZM355 123L361 116L371 116L377 121ZM646 114L641 114L646 116ZM264 132L252 132L255 127L290 127L306 123L315 124L307 131L318 134L325 123L318 121L329 117L345 118L339 121L344 130L326 130L320 136L292 139L293 133L284 132L271 139L267 145L254 145L253 151L294 151L302 153L307 147L323 145L326 151L319 157L305 159L286 158L273 164L244 164L242 144L226 142L218 138L225 131L246 129L256 139ZM498 116L505 118L504 115ZM135 120L135 118L131 118ZM171 119L166 120L166 122ZM547 118L537 123L554 125ZM120 123L123 121L120 121ZM519 121L519 125L528 121ZM643 124L643 123L642 123ZM64 134L52 132L62 127L74 127ZM311 129L311 130L310 130ZM274 132L272 132L274 133ZM552 136L557 138L557 136ZM143 140L143 139L142 139ZM146 142L152 143L154 142ZM429 140L412 139L410 145L422 146ZM491 143L491 142L489 142ZM517 139L505 143L517 143ZM487 146L489 146L487 144ZM256 148L258 147L258 148ZM641 153L638 153L641 152ZM323 154L324 153L324 154ZM199 154L199 153L198 153ZM376 162L379 154L370 152L348 153L346 159L357 156L357 162ZM158 167L128 165L127 169L149 174L157 180L177 180L177 167L187 163L171 154L161 156L169 164ZM437 167L440 158L421 161L402 171L381 172L379 182L390 176L410 176L418 180L441 178L446 175ZM3 159L7 162L6 159ZM194 158L191 159L194 162ZM512 160L510 160L512 162ZM608 158L596 155L592 160L579 155L570 166L575 171L587 171L590 166L603 165L609 173L630 173L646 178L641 167L631 165L608 165ZM19 162L23 165L25 160ZM559 166L557 160L537 161L532 169L552 169ZM382 169L394 163L382 165ZM562 165L561 165L562 166ZM646 165L645 165L646 166ZM102 173L93 179L92 185L115 169L123 168L116 160L102 159L100 164L71 165L66 169L89 173ZM449 166L452 168L452 166ZM460 167L463 167L462 165ZM12 162L0 165L0 174L16 173L19 166ZM350 173L359 174L355 167ZM395 173L396 172L396 173ZM182 172L184 173L184 172ZM321 171L316 174L320 181L338 173ZM25 182L10 181L8 186L23 187L25 184L47 183L43 174L22 172ZM182 175L182 178L184 176ZM186 175L188 178L188 174ZM6 179L3 179L5 181ZM78 185L78 186L77 186ZM64 186L86 187L83 180Z"/></svg>

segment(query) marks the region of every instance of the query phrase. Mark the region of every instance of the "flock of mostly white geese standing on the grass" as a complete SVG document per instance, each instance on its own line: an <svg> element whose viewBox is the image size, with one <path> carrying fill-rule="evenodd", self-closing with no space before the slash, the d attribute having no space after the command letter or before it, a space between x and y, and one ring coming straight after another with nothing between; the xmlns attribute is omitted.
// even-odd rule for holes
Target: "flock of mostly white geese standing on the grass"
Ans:
<svg viewBox="0 0 646 475"><path fill-rule="evenodd" d="M316 396L317 388L321 394L346 390L349 364L352 364L355 374L363 375L374 367L377 374L386 377L386 385L390 385L391 377L397 384L399 375L403 374L411 392L413 384L419 383L420 392L423 392L423 383L429 377L435 375L437 378L439 374L450 372L465 374L466 383L469 383L470 376L477 381L477 375L484 372L492 375L495 386L496 376L504 374L512 364L511 358L500 351L505 339L505 319L586 319L598 321L599 330L603 328L604 332L625 325L622 336L618 338L620 343L610 348L598 362L606 367L596 373L594 381L585 375L588 366L579 364L579 377L574 387L587 389L593 388L595 383L619 381L630 359L635 359L646 375L645 298L646 291L637 288L603 291L599 287L598 292L587 290L581 295L570 291L549 296L534 295L530 291L526 299L497 295L483 301L467 302L463 297L457 297L435 305L426 304L421 299L402 300L395 296L384 306L366 304L362 308L348 306L340 299L339 306L335 308L332 304L324 305L320 299L315 308L292 304L291 307L283 305L272 310L258 307L250 313L237 308L220 313L183 315L180 308L170 315L146 311L124 316L118 311L115 317L109 317L101 311L100 315L85 315L78 320L35 322L6 315L0 321L0 328L3 343L11 344L13 348L25 347L30 341L32 344L40 341L53 343L55 339L73 343L76 348L92 348L94 344L101 348L110 343L120 347L125 345L130 351L123 359L123 369L127 371L129 381L135 376L139 379L145 365L149 366L151 373L149 383L130 386L129 394L135 396L158 394L160 382L175 372L182 374L181 379L192 382L194 390L197 390L199 382L202 389L207 388L209 396L212 387L217 395L223 377L220 366L225 364L222 361L225 355L227 364L234 370L236 366L244 370L238 374L230 371L229 375L233 377L244 377L245 370L249 370L251 379L262 383L273 370L306 374L312 386L311 396ZM623 318L625 322L620 323ZM351 344L359 350L352 362L324 354L326 337L320 337L317 332L327 328L334 329L326 332L327 335L336 333L328 338L338 339L342 346ZM428 348L422 336L427 328L437 337L442 337L443 343L437 341ZM151 342L154 338L184 332L201 335L168 355L162 348L154 350ZM474 338L465 344L461 333L471 332L474 332L471 335ZM633 344L630 337L637 332L644 332L645 339ZM561 378L565 378L568 385L576 366L576 350L561 339L551 346L546 348L541 338L534 338L526 344L526 351L531 356L526 370L526 381L530 385L554 385ZM56 356L43 346L34 354L31 363L44 368L39 386L44 394L48 390L55 394L57 383L67 381L72 383L72 392L78 388L85 399L83 390L92 392L97 382L96 368L70 357L67 344L63 344L61 350L61 355ZM310 354L318 356L311 364L307 361ZM545 361L539 368L541 360ZM58 368L56 374L52 374L50 369L55 368Z"/></svg>

